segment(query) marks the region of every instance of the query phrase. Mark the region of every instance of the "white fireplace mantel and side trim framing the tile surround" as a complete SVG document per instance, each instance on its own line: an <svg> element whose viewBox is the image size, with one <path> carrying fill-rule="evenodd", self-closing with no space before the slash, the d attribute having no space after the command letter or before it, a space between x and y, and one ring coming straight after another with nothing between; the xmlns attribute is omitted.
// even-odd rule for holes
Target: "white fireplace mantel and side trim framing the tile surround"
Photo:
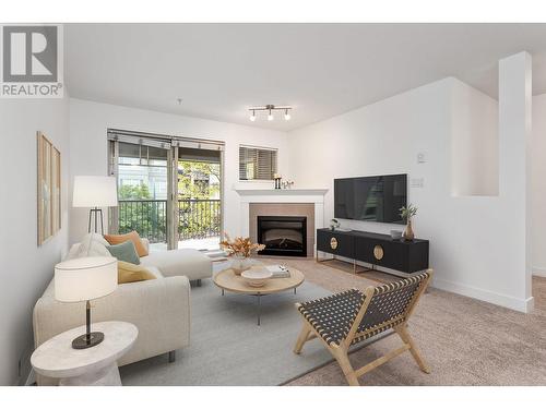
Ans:
<svg viewBox="0 0 546 409"><path fill-rule="evenodd" d="M314 228L324 227L324 194L328 189L235 189L240 196L240 234L249 234L250 203L312 203Z"/></svg>

